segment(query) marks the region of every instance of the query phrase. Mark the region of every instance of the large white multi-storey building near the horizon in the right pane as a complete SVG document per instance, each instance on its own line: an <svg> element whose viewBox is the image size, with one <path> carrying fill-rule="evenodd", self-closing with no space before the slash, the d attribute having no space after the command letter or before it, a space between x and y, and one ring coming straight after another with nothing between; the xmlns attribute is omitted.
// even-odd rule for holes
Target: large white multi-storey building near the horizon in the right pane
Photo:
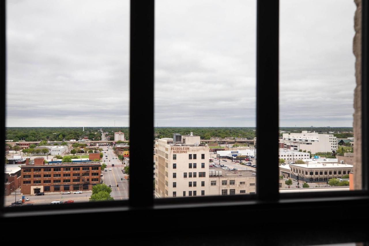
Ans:
<svg viewBox="0 0 369 246"><path fill-rule="evenodd" d="M306 150L311 153L332 152L338 147L337 137L333 134L318 134L302 131L301 133L283 133L279 148Z"/></svg>

